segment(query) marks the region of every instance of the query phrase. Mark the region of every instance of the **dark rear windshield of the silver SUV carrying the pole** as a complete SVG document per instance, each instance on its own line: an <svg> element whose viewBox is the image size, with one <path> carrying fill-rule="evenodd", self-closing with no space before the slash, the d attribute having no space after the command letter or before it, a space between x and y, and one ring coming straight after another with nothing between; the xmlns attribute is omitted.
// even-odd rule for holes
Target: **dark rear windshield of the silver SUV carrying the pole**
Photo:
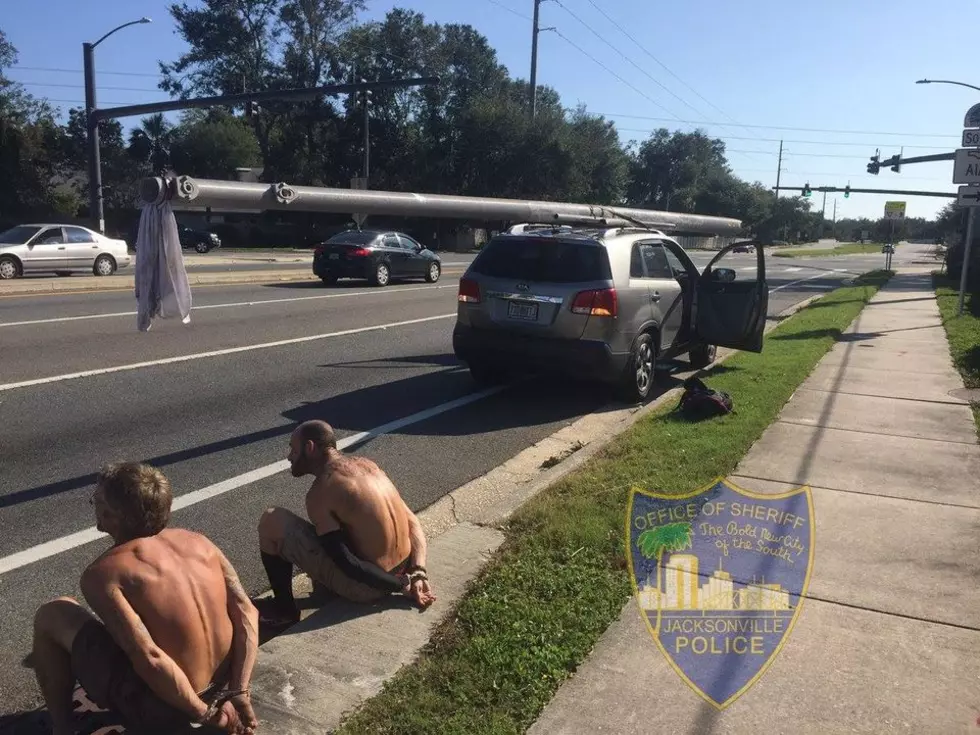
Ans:
<svg viewBox="0 0 980 735"><path fill-rule="evenodd" d="M540 237L494 238L473 261L473 271L491 278L546 283L607 281L606 249L596 243Z"/></svg>

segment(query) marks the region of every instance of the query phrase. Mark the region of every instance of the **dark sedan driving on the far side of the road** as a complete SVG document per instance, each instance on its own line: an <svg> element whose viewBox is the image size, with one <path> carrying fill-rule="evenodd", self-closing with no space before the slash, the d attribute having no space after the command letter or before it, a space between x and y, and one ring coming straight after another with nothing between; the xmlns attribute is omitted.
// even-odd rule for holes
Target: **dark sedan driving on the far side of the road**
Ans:
<svg viewBox="0 0 980 735"><path fill-rule="evenodd" d="M366 279L375 286L387 286L396 278L435 283L442 274L442 261L402 232L350 230L314 249L313 273L328 284L340 278Z"/></svg>

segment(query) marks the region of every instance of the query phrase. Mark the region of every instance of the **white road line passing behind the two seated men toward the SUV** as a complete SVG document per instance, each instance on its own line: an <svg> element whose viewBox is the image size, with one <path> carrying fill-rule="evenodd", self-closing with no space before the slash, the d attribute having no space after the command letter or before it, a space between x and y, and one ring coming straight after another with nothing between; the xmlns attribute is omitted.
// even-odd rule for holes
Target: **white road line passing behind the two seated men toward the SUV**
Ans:
<svg viewBox="0 0 980 735"><path fill-rule="evenodd" d="M492 396L495 393L505 390L506 387L507 386L497 386L494 388L487 388L486 390L482 390L478 393L470 393L462 398L447 401L446 403L440 403L437 406L427 408L409 416L405 416L394 421L389 421L387 424L382 424L381 426L369 429L368 431L362 431L358 434L344 437L343 439L337 441L337 447L339 449L346 449L347 447L353 444L359 444L366 439L373 439L375 437L382 436L383 434L397 431L405 426L426 421L427 419L438 416L446 411L452 411L455 408L460 408L462 406L469 405L470 403L475 403L476 401L482 400L483 398ZM224 495L232 490L237 490L241 487L245 487L246 485L250 485L253 482L258 482L259 480L263 480L266 477L271 477L272 475L288 469L288 460L273 462L265 467L258 467L241 475L229 477L227 480L222 480L221 482L217 482L213 485L202 487L200 490L194 490L193 492L174 498L171 508L174 511L188 508L192 505L197 505L205 500L216 498L219 495ZM11 572L14 569L27 566L28 564L41 561L42 559L47 559L50 556L55 556L56 554L70 551L71 549L105 537L106 534L102 533L96 528L86 528L84 531L77 531L76 533L71 533L67 536L62 536L61 538L47 541L43 544L38 544L37 546L32 546L29 549L18 551L15 554L10 554L9 556L0 558L0 575Z"/></svg>

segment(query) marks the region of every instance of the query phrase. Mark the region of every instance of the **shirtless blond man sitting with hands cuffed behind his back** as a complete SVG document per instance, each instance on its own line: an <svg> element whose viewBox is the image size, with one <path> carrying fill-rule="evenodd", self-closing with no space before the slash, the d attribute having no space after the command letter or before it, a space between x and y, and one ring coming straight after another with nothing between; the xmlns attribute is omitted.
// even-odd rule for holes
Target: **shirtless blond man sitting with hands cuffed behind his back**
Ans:
<svg viewBox="0 0 980 735"><path fill-rule="evenodd" d="M96 525L114 545L85 570L81 589L101 621L68 597L34 618L32 664L55 735L74 733L76 679L135 732L206 723L251 733L258 724L248 694L258 611L214 544L166 528L171 501L152 467L99 473Z"/></svg>

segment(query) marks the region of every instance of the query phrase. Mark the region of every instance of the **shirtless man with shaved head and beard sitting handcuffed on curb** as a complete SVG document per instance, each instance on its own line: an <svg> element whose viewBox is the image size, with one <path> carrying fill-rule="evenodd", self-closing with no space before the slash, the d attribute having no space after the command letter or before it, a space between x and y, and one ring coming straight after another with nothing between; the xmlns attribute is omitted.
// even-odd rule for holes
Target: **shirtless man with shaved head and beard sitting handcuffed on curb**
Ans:
<svg viewBox="0 0 980 735"><path fill-rule="evenodd" d="M270 508L259 521L262 563L273 592L257 603L264 624L278 628L299 621L293 565L354 602L397 592L423 610L435 601L422 526L374 462L343 454L324 421L296 428L289 462L293 477L314 477L306 494L309 521L284 508Z"/></svg>

